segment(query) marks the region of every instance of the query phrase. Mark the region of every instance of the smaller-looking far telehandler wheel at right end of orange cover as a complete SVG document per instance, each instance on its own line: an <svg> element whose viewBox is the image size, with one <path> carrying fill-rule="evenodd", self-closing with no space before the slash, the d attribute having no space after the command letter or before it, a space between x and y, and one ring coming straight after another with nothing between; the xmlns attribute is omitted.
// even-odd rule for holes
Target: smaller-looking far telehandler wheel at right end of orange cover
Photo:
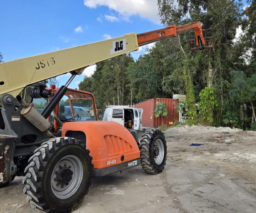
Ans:
<svg viewBox="0 0 256 213"><path fill-rule="evenodd" d="M166 164L167 146L163 132L147 130L140 141L140 165L145 173L161 173Z"/></svg>

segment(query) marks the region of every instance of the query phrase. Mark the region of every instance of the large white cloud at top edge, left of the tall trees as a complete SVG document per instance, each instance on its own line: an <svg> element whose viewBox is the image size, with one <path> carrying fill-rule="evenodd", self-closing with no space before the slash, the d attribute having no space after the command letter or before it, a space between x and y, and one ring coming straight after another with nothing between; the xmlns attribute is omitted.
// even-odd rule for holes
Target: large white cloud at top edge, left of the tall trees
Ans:
<svg viewBox="0 0 256 213"><path fill-rule="evenodd" d="M123 19L139 15L154 23L160 23L157 0L84 0L84 5L94 9L98 6L107 6L118 12Z"/></svg>

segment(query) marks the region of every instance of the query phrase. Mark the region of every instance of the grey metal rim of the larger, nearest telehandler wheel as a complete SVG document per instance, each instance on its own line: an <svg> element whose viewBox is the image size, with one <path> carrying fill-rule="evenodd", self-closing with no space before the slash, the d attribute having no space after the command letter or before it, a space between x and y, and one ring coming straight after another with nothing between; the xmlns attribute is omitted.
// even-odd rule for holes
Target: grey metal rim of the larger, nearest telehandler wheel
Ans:
<svg viewBox="0 0 256 213"><path fill-rule="evenodd" d="M66 155L61 158L52 170L53 194L59 199L68 199L73 196L80 187L84 176L83 171L83 164L76 155Z"/></svg>

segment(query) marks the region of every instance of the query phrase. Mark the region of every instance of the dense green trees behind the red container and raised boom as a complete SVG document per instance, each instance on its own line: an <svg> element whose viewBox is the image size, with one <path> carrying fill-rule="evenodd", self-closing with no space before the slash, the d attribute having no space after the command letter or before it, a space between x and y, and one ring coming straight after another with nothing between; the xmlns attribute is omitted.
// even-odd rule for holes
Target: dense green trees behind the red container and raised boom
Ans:
<svg viewBox="0 0 256 213"><path fill-rule="evenodd" d="M96 63L79 88L95 95L98 108L186 94L186 124L246 129L256 120L256 1L248 4L243 9L241 0L158 0L164 25L201 20L204 29L212 28L215 48L191 52L189 34L179 34L156 42L136 62L124 54ZM235 39L239 26L243 34Z"/></svg>

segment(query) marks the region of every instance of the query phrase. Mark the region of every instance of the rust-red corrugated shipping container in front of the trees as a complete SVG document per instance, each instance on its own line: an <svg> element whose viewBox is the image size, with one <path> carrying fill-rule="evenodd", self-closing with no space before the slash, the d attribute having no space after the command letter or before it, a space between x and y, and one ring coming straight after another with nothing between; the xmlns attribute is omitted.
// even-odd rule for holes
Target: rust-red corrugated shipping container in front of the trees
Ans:
<svg viewBox="0 0 256 213"><path fill-rule="evenodd" d="M177 99L172 98L152 98L147 101L134 104L134 108L143 109L142 125L143 127L159 127L162 125L162 117L156 118L154 116L154 109L157 106L157 102L164 102L168 109L168 115L163 116L163 124L170 127L174 124L174 121L179 121L179 114L176 105L179 103Z"/></svg>

